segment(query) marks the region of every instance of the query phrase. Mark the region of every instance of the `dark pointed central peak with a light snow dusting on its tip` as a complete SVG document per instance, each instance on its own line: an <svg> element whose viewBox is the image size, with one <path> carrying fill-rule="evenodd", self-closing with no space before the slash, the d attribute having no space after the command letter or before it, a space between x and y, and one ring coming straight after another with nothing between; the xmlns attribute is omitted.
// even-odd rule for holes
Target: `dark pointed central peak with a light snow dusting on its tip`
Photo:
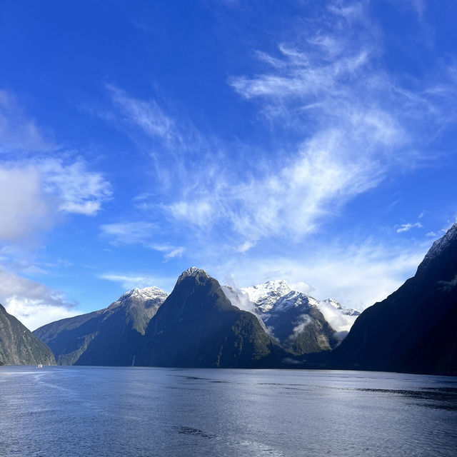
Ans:
<svg viewBox="0 0 457 457"><path fill-rule="evenodd" d="M192 267L149 322L139 364L253 368L278 364L282 355L256 316L233 306L216 279Z"/></svg>

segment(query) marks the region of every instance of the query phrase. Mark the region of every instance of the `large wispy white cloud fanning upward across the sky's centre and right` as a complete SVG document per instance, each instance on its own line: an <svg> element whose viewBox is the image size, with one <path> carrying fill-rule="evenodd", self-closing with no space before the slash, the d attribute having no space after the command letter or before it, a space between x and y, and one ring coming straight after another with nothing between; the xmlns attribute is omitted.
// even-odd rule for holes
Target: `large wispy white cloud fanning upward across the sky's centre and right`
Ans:
<svg viewBox="0 0 457 457"><path fill-rule="evenodd" d="M124 124L155 141L154 167L171 183L154 196L141 194L138 208L160 210L166 224L192 233L194 246L229 245L235 255L251 256L263 239L303 241L348 201L423 161L414 126L441 122L439 100L451 84L432 78L403 87L389 75L367 2L331 2L322 14L297 30L295 39L279 42L276 53L256 51L263 71L229 78L268 125L294 139L281 151L256 151L256 160L234 172L224 159L236 149L218 144L216 154L214 143L156 100L108 86ZM432 91L438 86L443 90ZM136 238L132 242L160 250L150 233L133 231ZM161 244L169 256L183 251ZM308 278L296 278L303 280Z"/></svg>

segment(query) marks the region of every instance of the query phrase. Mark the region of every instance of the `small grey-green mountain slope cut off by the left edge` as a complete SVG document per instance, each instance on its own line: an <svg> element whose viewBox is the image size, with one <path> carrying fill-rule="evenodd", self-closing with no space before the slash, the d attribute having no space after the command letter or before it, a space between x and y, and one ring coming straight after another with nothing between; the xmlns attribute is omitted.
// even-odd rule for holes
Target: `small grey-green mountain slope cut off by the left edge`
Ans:
<svg viewBox="0 0 457 457"><path fill-rule="evenodd" d="M54 365L51 349L0 305L0 365Z"/></svg>

